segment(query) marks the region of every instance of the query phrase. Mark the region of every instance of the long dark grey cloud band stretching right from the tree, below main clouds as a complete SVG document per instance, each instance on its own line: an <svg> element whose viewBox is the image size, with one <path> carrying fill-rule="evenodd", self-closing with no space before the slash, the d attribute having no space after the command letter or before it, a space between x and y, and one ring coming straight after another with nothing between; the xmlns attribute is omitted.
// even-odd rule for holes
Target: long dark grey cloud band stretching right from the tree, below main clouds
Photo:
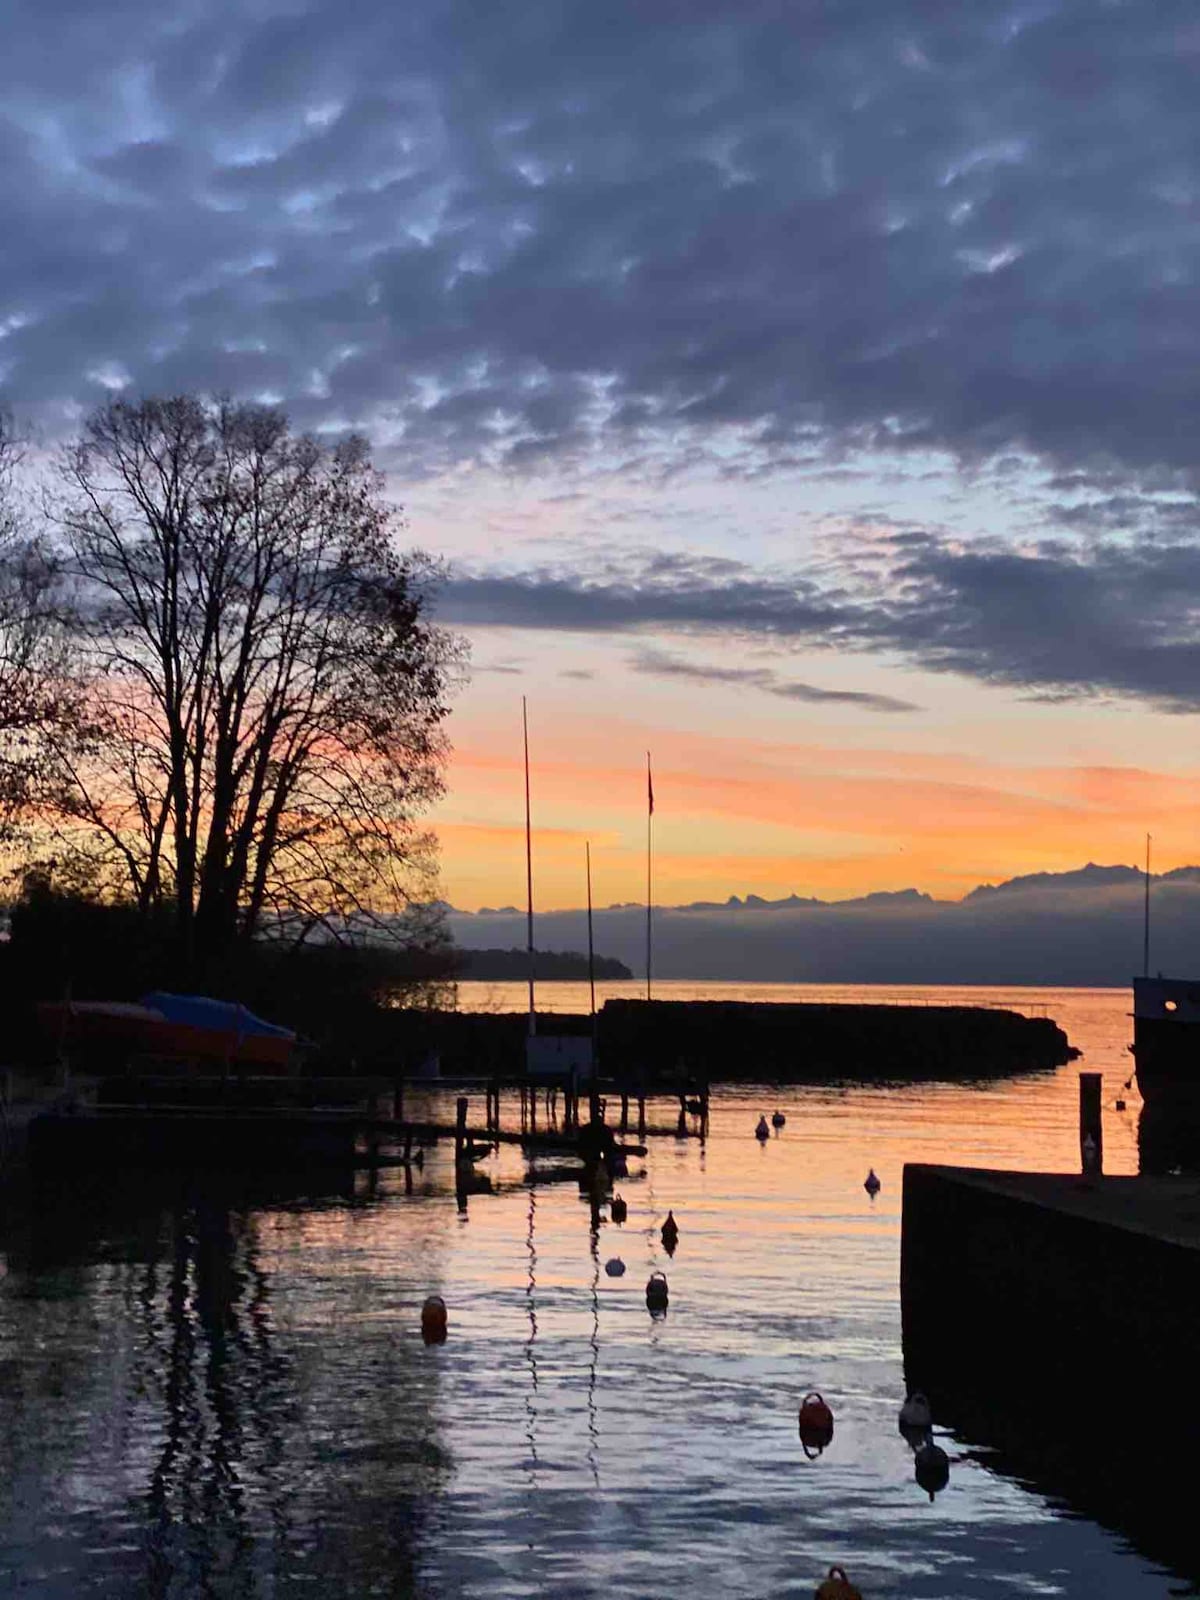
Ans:
<svg viewBox="0 0 1200 1600"><path fill-rule="evenodd" d="M1126 696L1165 710L1200 709L1200 547L1152 539L1013 549L962 546L898 530L846 544L824 586L749 566L656 557L624 576L560 573L454 578L446 619L590 632L725 634L806 650L888 651L1037 696ZM640 658L642 670L746 682L824 698L757 669ZM878 710L909 709L906 702Z"/></svg>

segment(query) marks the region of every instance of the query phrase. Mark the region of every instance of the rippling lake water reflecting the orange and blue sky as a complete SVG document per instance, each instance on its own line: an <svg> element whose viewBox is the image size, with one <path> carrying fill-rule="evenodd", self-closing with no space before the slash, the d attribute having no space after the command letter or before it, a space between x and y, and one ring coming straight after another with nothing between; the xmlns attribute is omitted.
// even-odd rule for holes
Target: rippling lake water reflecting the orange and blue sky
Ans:
<svg viewBox="0 0 1200 1600"><path fill-rule="evenodd" d="M1136 1171L1138 1099L1114 1106L1128 990L915 994L1054 1016L1106 1075L1107 1170ZM832 1563L866 1600L1194 1592L976 1442L942 1438L950 1485L930 1502L896 1430L902 1165L1077 1170L1078 1066L718 1091L707 1142L651 1141L618 1184L627 1222L598 1232L574 1182L526 1184L512 1147L466 1211L446 1147L411 1194L392 1170L334 1194L18 1195L0 1226L0 1592L757 1600L808 1597ZM776 1107L786 1128L760 1147ZM603 1272L616 1254L622 1278ZM661 1322L643 1299L658 1269ZM427 1293L450 1306L443 1346L419 1336ZM835 1413L818 1459L797 1437L810 1389Z"/></svg>

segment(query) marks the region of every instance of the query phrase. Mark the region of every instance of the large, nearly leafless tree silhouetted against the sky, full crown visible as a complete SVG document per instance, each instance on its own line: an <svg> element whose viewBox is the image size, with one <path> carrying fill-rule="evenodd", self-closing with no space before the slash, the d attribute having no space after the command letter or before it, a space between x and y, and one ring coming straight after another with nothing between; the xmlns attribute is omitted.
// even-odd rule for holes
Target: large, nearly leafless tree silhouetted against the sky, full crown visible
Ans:
<svg viewBox="0 0 1200 1600"><path fill-rule="evenodd" d="M114 402L58 522L86 726L40 803L200 965L238 939L427 923L459 642L362 440L272 408Z"/></svg>

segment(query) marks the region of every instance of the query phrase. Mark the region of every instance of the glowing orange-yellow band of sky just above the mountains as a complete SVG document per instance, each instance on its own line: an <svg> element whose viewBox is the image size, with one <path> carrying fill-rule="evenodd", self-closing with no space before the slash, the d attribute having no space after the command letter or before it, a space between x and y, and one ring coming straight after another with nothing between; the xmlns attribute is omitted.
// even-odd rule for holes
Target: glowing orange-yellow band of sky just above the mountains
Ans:
<svg viewBox="0 0 1200 1600"><path fill-rule="evenodd" d="M851 899L915 888L960 899L1030 872L1141 864L1154 819L1154 870L1200 859L1200 771L990 765L915 752L739 750L725 771L662 739L654 762L653 899L730 894ZM709 752L704 752L709 754ZM736 768L742 774L736 774ZM850 770L830 771L830 766ZM866 770L864 770L866 768ZM453 813L435 819L445 898L464 909L525 904L520 758L464 752ZM586 802L581 795L589 797ZM450 808L446 808L450 810ZM608 760L542 762L533 773L534 899L584 904L584 845L597 906L646 893L645 771Z"/></svg>

